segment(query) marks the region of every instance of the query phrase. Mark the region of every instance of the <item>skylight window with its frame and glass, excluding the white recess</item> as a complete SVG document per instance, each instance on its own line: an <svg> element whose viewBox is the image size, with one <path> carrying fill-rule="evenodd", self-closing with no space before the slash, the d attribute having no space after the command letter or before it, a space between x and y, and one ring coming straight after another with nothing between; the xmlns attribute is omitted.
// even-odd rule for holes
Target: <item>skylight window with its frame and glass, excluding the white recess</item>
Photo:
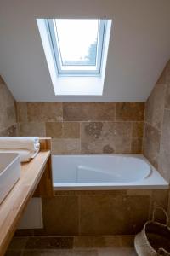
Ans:
<svg viewBox="0 0 170 256"><path fill-rule="evenodd" d="M105 20L47 20L59 74L99 75Z"/></svg>

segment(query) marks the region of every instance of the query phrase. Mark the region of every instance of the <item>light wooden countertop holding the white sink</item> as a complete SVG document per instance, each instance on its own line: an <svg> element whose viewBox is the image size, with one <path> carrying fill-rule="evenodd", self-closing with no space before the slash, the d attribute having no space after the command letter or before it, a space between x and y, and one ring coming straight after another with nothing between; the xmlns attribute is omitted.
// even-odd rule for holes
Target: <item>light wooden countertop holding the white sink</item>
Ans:
<svg viewBox="0 0 170 256"><path fill-rule="evenodd" d="M0 205L0 255L3 256L14 235L27 203L30 201L45 169L50 168L50 150L40 151L36 158L21 165L20 180Z"/></svg>

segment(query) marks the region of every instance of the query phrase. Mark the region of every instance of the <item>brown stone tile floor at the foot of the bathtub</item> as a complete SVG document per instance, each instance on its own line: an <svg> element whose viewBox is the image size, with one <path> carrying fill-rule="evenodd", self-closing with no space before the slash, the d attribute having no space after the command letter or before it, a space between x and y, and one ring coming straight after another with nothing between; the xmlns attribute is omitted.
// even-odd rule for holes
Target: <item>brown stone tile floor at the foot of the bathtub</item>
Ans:
<svg viewBox="0 0 170 256"><path fill-rule="evenodd" d="M137 256L133 236L14 237L5 256Z"/></svg>

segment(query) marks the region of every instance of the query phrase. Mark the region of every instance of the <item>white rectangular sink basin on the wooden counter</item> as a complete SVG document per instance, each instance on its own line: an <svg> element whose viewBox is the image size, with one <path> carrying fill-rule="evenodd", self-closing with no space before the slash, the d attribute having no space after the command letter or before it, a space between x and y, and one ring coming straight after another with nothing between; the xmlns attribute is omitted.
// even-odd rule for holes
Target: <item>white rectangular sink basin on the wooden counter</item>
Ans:
<svg viewBox="0 0 170 256"><path fill-rule="evenodd" d="M0 153L0 203L20 178L20 155Z"/></svg>

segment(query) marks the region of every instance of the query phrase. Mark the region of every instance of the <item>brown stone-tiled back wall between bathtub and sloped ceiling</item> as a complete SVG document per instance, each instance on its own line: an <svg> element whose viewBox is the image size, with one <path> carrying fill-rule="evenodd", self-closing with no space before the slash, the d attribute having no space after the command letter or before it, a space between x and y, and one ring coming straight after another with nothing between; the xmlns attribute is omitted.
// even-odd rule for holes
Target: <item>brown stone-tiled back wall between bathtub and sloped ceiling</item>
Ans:
<svg viewBox="0 0 170 256"><path fill-rule="evenodd" d="M53 154L141 153L144 102L17 103L21 136L52 137Z"/></svg>

